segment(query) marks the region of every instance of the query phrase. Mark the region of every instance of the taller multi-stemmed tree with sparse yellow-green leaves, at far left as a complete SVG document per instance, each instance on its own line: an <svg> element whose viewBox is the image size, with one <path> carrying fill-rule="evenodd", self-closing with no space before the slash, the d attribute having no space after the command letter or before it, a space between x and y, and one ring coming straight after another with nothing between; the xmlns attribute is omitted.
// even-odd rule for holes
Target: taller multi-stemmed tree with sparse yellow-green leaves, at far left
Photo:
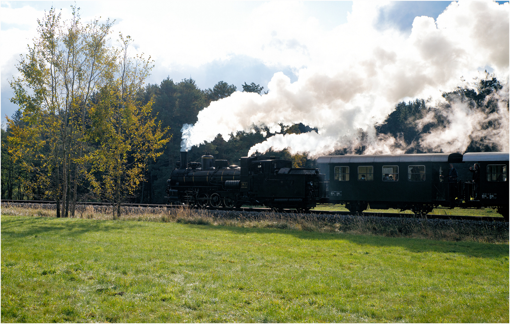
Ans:
<svg viewBox="0 0 510 324"><path fill-rule="evenodd" d="M83 26L79 8L71 8L68 22L53 7L37 20L38 36L17 66L22 77L11 82L11 102L20 107L25 127L8 119L13 158L32 175L27 185L33 192L47 188L42 195L55 197L58 217L60 199L68 215L71 195L74 213L88 98L104 84L115 58L106 47L111 23Z"/></svg>

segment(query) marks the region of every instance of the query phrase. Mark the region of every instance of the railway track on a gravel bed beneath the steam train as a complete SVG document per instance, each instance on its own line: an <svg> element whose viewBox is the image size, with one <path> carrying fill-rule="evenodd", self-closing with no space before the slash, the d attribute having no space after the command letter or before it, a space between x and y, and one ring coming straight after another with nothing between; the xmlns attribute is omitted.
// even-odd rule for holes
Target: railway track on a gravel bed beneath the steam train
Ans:
<svg viewBox="0 0 510 324"><path fill-rule="evenodd" d="M56 204L55 201L27 201L27 200L2 200L2 203L24 203L24 204ZM92 206L111 206L111 203L90 203L90 202L78 202L78 205L92 205ZM171 207L179 207L177 205L162 205L162 204L122 204L125 207L152 207L152 208L171 208ZM199 209L199 207L193 207L195 209ZM206 207L207 210L232 210L232 211L258 211L258 212L269 212L272 211L270 208L251 208L251 207L241 207L241 208L212 208ZM284 209L281 210L283 212L295 213L295 210ZM347 211L331 211L331 210L310 210L312 214L322 214L322 215L352 215L351 212ZM438 214L427 214L427 215L415 215L415 214L404 214L404 213L374 213L374 212L363 212L359 213L362 216L376 216L376 217L427 217L431 219L454 219L454 220L482 220L482 221L504 221L503 217L487 217L487 216L465 216L465 215L438 215Z"/></svg>

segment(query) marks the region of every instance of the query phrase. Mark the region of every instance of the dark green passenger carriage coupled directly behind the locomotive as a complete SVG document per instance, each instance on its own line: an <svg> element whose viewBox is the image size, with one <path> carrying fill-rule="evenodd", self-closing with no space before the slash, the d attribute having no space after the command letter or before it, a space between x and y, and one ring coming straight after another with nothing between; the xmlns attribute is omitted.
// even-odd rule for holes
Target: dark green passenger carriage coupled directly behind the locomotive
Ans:
<svg viewBox="0 0 510 324"><path fill-rule="evenodd" d="M346 204L351 212L411 209L428 213L434 206L453 206L449 163L462 154L392 154L323 156L317 164L329 179L329 203Z"/></svg>

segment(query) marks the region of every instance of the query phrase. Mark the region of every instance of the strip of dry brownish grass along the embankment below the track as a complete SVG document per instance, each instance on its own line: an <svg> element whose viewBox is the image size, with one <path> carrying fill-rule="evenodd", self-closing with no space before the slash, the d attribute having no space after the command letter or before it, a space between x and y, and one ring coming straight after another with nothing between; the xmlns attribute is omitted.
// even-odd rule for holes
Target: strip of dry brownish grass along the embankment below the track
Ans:
<svg viewBox="0 0 510 324"><path fill-rule="evenodd" d="M13 204L11 204L13 205ZM34 206L38 207L38 206ZM2 215L56 217L56 211L21 208L2 204ZM54 206L53 206L54 208ZM75 218L112 220L110 206L77 206ZM315 214L285 214L274 212L221 213L217 211L173 208L123 207L118 220L177 222L192 225L231 226L242 228L279 229L320 233L347 233L410 237L447 241L508 242L508 226L499 222L466 222L410 218L342 216L321 219Z"/></svg>

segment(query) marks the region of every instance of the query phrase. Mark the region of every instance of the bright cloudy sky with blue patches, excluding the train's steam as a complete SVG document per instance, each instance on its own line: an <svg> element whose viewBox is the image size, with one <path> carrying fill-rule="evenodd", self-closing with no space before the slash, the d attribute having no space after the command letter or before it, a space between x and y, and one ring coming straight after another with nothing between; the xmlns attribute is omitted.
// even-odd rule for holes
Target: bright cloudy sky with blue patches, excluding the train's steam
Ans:
<svg viewBox="0 0 510 324"><path fill-rule="evenodd" d="M17 76L16 62L36 36L37 19L55 6L69 17L69 1L2 1L1 113L11 116L9 80ZM155 60L149 83L170 77L192 78L201 89L218 81L242 90L244 82L267 89L273 74L282 71L291 81L307 67L309 35L327 33L347 22L352 2L240 2L240 1L78 1L82 19L115 20L112 42L121 31L135 40L136 52ZM380 10L378 29L398 28L410 33L415 16L437 16L446 1L389 3ZM297 52L296 52L297 49ZM300 51L300 52L299 52ZM296 54L297 53L297 54Z"/></svg>

